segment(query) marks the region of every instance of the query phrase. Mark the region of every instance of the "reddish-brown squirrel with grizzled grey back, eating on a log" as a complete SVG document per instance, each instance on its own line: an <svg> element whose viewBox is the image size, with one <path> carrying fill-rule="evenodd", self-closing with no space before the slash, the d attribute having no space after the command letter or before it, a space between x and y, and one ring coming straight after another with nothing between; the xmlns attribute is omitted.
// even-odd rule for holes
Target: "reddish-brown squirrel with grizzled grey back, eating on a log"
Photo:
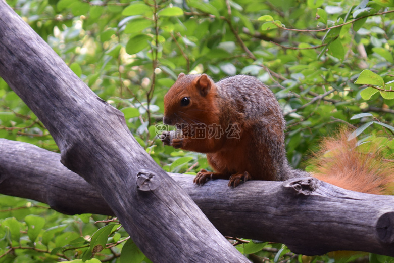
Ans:
<svg viewBox="0 0 394 263"><path fill-rule="evenodd" d="M357 142L348 141L344 133L323 142L313 174L293 169L286 158L282 109L272 91L249 75L215 83L207 74L180 73L164 96L163 123L176 126L160 136L165 145L207 154L214 172L201 169L193 180L200 185L210 179L228 179L228 185L236 187L247 180L315 176L376 194L387 190L394 174L392 163L382 164L379 149L372 154L349 151ZM336 155L326 157L327 151Z"/></svg>

